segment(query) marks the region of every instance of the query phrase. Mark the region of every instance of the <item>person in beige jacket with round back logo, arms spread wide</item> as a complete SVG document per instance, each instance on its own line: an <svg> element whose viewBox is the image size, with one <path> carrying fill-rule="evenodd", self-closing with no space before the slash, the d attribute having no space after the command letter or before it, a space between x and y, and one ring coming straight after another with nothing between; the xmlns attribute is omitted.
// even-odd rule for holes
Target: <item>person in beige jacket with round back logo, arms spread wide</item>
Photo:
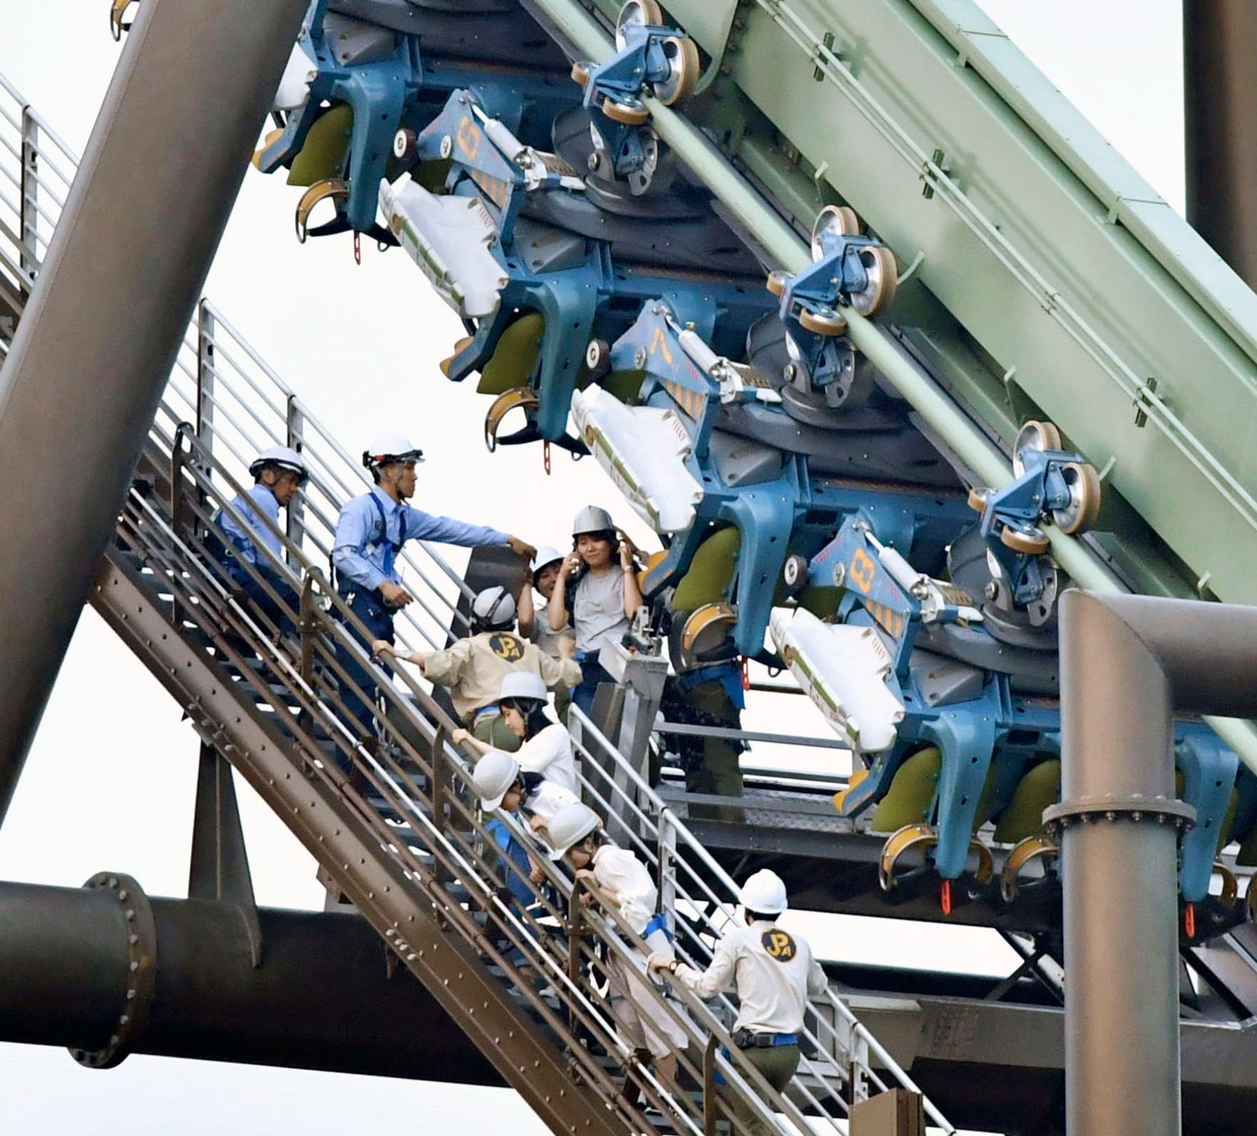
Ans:
<svg viewBox="0 0 1257 1136"><path fill-rule="evenodd" d="M510 753L519 749L520 735L508 729L498 705L507 676L532 675L541 686L542 699L547 687L561 682L574 686L581 681L581 667L571 648L566 657L551 658L535 643L514 635L514 628L515 601L505 588L494 586L471 601L471 635L444 651L400 656L382 638L371 648L380 657L391 655L419 664L425 679L449 690L455 711L475 738Z"/></svg>

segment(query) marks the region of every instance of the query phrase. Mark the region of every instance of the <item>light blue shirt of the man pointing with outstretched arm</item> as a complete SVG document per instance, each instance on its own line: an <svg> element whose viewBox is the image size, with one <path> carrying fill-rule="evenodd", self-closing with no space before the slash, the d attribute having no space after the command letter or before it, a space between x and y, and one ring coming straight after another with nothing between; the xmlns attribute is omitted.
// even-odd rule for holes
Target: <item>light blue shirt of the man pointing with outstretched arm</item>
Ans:
<svg viewBox="0 0 1257 1136"><path fill-rule="evenodd" d="M385 528L381 527L381 510ZM336 523L332 563L344 583L376 591L385 581L401 583L397 574L396 549L406 540L437 540L463 548L485 548L505 544L508 537L486 525L466 524L449 516L432 516L395 501L378 485L346 503Z"/></svg>

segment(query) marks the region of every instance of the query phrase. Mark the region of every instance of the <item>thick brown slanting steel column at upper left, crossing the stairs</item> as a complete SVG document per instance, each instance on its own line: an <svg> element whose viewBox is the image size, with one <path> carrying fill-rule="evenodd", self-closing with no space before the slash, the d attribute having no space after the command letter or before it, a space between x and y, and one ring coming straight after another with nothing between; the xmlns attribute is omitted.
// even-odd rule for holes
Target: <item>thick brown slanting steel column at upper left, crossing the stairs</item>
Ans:
<svg viewBox="0 0 1257 1136"><path fill-rule="evenodd" d="M145 0L0 371L0 819L307 0Z"/></svg>

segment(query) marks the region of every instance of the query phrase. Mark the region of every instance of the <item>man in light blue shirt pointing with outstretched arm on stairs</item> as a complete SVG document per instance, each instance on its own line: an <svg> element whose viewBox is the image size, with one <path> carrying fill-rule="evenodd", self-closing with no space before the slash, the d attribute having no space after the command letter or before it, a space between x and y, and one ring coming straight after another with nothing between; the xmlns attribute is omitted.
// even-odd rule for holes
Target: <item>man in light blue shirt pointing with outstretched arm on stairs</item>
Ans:
<svg viewBox="0 0 1257 1136"><path fill-rule="evenodd" d="M466 524L449 516L434 516L412 508L415 466L424 454L410 439L388 434L377 437L362 455L371 470L375 489L353 498L341 510L332 542L332 564L337 591L353 613L366 625L367 640L395 641L393 614L412 602L397 569L397 555L407 540L437 540L464 548L509 545L530 560L535 549L518 537L486 525ZM354 632L357 637L357 633ZM375 697L375 680L349 651L338 651L348 682L341 682L341 701L360 735L373 735L373 720L366 699Z"/></svg>

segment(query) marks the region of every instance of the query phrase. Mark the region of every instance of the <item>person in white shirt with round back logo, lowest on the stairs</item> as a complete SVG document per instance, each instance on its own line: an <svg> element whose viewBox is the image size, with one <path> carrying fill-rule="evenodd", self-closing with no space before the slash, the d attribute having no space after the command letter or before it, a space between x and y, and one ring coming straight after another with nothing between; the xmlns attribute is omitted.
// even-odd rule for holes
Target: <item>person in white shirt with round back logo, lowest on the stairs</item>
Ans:
<svg viewBox="0 0 1257 1136"><path fill-rule="evenodd" d="M733 1023L733 1042L778 1092L789 1084L799 1061L799 1033L810 997L828 985L821 964L806 940L777 925L789 906L781 876L760 870L747 877L738 895L742 922L715 945L704 971L679 963L670 951L652 954L647 966L670 974L699 998L714 998L730 984L740 1007ZM738 1100L734 1113L755 1136L771 1130Z"/></svg>

